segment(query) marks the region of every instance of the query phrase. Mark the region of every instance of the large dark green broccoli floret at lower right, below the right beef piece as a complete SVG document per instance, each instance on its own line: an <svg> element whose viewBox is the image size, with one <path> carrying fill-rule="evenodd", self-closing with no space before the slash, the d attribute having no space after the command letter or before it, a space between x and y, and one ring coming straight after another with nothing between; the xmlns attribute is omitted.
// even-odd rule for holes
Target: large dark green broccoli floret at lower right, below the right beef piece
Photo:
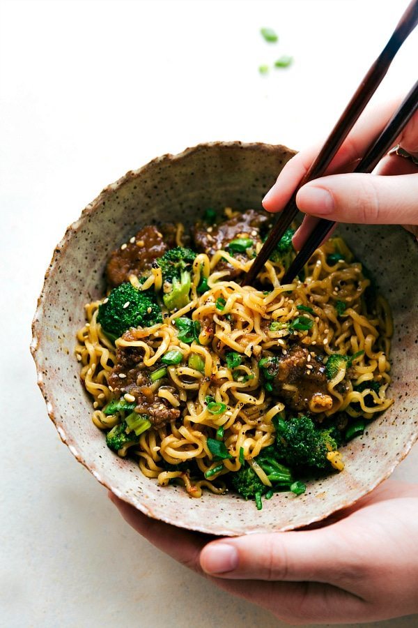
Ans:
<svg viewBox="0 0 418 628"><path fill-rule="evenodd" d="M279 460L291 467L308 466L324 469L327 454L336 450L336 436L332 431L319 430L309 417L293 417L284 421L274 417L276 451Z"/></svg>

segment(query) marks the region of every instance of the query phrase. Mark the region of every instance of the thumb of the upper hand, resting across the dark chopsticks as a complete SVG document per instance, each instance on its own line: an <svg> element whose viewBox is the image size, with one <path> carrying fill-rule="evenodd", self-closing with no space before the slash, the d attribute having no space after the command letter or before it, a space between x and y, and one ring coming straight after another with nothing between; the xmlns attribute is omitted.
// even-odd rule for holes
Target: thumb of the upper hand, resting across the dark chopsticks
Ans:
<svg viewBox="0 0 418 628"><path fill-rule="evenodd" d="M418 173L382 177L334 174L309 181L296 196L305 214L339 223L418 224Z"/></svg>

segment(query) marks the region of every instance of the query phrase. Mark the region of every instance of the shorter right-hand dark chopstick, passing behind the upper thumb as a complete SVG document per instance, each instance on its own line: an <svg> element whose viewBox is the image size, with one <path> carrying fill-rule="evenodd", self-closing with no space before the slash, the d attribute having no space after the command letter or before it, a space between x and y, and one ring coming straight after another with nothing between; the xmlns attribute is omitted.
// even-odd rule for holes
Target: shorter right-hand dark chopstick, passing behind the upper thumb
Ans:
<svg viewBox="0 0 418 628"><path fill-rule="evenodd" d="M372 172L380 159L392 147L396 137L398 137L399 133L401 133L406 124L408 124L417 109L418 81L415 83L414 87L412 87L408 96L406 96L385 128L382 130L378 139L371 144L369 149L367 149L366 154L353 172ZM309 234L309 237L304 242L302 249L299 253L297 253L295 259L281 279L281 285L287 285L288 283L293 282L295 276L300 273L304 264L307 263L311 255L314 251L316 251L318 246L320 246L323 239L325 239L335 224L334 220L320 218L314 229Z"/></svg>

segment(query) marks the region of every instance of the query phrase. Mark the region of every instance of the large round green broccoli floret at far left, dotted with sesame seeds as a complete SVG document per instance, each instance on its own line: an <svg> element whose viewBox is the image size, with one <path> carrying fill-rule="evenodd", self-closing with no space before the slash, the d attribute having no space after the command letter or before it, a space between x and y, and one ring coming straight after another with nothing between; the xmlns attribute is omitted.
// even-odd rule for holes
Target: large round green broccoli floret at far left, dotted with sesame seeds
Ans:
<svg viewBox="0 0 418 628"><path fill-rule="evenodd" d="M98 322L105 334L120 338L130 327L151 327L162 322L161 308L152 290L137 290L130 283L121 283L99 306Z"/></svg>

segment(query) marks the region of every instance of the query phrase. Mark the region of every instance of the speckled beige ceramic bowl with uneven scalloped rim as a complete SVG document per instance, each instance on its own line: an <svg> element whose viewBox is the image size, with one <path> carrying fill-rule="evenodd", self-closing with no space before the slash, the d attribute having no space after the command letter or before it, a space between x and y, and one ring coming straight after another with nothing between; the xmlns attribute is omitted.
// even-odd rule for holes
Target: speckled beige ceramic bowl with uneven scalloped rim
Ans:
<svg viewBox="0 0 418 628"><path fill-rule="evenodd" d="M49 417L72 454L101 484L148 516L190 530L242 534L291 530L353 504L387 478L418 435L418 251L401 227L339 230L376 276L394 314L390 393L396 403L362 438L343 448L346 468L312 481L295 498L279 493L258 512L235 495L189 498L176 486L146 479L134 461L118 458L91 422L91 400L79 378L75 334L84 304L102 295L109 251L150 220L192 223L205 207L261 208L261 199L293 151L240 142L201 144L164 155L105 188L68 227L47 269L33 321L31 350ZM116 227L116 228L115 228Z"/></svg>

